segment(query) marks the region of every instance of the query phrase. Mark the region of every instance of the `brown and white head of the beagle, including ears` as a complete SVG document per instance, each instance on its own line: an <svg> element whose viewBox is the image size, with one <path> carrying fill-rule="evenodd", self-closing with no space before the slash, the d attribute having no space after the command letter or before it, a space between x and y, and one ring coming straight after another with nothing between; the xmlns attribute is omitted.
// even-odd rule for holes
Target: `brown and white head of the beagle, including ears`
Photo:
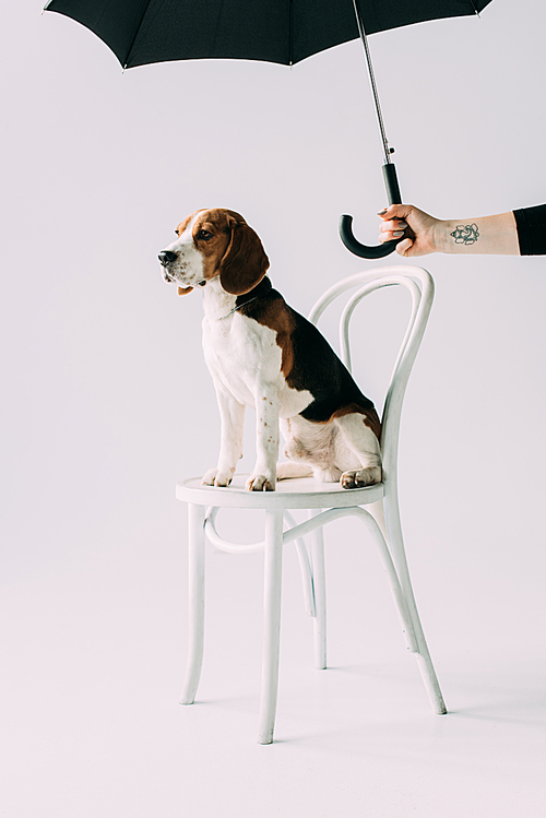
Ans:
<svg viewBox="0 0 546 818"><path fill-rule="evenodd" d="M270 265L258 235L232 210L199 210L178 225L176 235L158 258L163 277L178 285L178 295L204 287L217 275L227 293L244 295Z"/></svg>

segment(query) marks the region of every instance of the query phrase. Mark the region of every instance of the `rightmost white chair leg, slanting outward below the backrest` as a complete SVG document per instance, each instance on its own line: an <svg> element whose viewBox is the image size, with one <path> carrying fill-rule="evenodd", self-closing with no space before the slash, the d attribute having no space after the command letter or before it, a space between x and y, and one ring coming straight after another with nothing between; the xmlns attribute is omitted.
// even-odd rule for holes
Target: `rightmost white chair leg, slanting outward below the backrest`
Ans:
<svg viewBox="0 0 546 818"><path fill-rule="evenodd" d="M420 624L417 605L415 602L415 595L413 592L412 580L410 577L410 569L407 567L407 559L404 548L404 541L402 537L402 525L400 522L399 506L395 497L385 497L384 499L384 517L388 532L388 543L391 548L392 558L396 566L396 572L399 574L400 584L404 592L406 601L407 612L413 624L415 638L417 641L418 652L415 654L417 659L417 665L425 684L430 703L438 715L444 715L448 712L443 696L440 690L438 677L436 675L432 660L428 650L427 641L423 626Z"/></svg>

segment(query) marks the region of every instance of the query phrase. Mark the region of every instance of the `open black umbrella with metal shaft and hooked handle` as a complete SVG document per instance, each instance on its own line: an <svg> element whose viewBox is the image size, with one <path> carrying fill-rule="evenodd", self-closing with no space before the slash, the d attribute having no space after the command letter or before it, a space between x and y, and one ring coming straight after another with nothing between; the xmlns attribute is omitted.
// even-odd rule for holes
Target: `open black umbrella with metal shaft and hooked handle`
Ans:
<svg viewBox="0 0 546 818"><path fill-rule="evenodd" d="M383 176L390 204L401 204L391 162L367 34L427 20L478 14L491 0L49 0L56 11L91 28L123 68L191 59L264 60L293 66L313 54L360 37L384 150ZM344 245L378 259L396 241L365 247L340 220Z"/></svg>

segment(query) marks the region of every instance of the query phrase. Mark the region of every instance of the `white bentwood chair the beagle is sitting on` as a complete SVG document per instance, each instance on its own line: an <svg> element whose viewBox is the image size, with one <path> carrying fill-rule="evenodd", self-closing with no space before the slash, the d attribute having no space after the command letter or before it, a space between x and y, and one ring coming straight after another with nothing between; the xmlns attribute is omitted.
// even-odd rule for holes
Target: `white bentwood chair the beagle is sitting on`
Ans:
<svg viewBox="0 0 546 818"><path fill-rule="evenodd" d="M205 535L222 550L241 554L264 552L264 647L259 719L260 744L271 744L276 711L281 625L281 576L283 546L296 541L304 577L306 609L314 620L316 666L327 666L324 548L322 527L340 517L353 514L364 523L377 545L394 596L407 649L415 653L430 702L436 713L447 712L430 660L407 569L402 540L396 486L400 418L404 393L419 348L434 298L430 274L415 266L385 266L351 275L334 284L317 301L309 320L317 323L337 296L357 288L347 300L340 321L342 357L351 369L348 325L358 303L381 287L406 287L412 296L407 330L394 365L382 415L381 451L383 482L367 488L342 489L339 484L316 483L312 477L277 483L275 491L252 493L236 475L228 488L202 486L200 478L177 485L178 499L189 505L189 628L190 648L181 703L191 704L201 674L204 621ZM364 508L368 507L368 508ZM222 540L215 529L221 508L263 509L264 541L237 545ZM308 509L309 519L295 524L289 509ZM323 510L325 509L325 510ZM370 513L371 512L371 513ZM283 532L286 522L290 527ZM310 556L302 540L311 535Z"/></svg>

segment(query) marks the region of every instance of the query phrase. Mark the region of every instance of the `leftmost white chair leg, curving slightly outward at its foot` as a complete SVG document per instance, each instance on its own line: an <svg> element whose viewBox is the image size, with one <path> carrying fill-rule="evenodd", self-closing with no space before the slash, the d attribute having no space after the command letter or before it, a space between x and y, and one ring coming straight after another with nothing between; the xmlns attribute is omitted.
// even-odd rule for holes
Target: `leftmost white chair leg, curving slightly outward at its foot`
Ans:
<svg viewBox="0 0 546 818"><path fill-rule="evenodd" d="M188 503L189 654L180 704L193 704L203 664L204 506Z"/></svg>

